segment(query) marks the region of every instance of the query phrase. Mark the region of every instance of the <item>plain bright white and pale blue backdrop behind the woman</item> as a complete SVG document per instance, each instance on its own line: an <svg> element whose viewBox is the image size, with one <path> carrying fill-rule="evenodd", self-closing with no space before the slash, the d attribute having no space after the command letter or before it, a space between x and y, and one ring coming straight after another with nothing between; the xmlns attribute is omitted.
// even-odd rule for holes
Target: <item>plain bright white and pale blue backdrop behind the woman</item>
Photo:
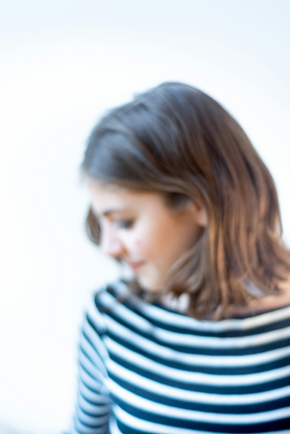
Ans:
<svg viewBox="0 0 290 434"><path fill-rule="evenodd" d="M67 431L90 294L119 270L86 239L79 164L107 109L197 86L274 176L290 244L288 0L0 4L0 433ZM5 428L6 427L6 428Z"/></svg>

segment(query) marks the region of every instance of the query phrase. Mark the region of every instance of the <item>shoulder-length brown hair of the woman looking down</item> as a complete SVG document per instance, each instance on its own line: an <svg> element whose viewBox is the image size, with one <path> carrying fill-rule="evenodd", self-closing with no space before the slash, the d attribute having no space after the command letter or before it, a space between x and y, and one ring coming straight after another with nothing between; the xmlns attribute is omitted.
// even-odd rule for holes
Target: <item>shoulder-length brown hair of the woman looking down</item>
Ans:
<svg viewBox="0 0 290 434"><path fill-rule="evenodd" d="M240 125L210 96L163 83L110 111L89 137L83 173L172 206L203 206L208 226L172 266L165 292L189 294L188 314L223 316L229 306L278 294L290 274L274 181ZM87 233L99 243L92 210Z"/></svg>

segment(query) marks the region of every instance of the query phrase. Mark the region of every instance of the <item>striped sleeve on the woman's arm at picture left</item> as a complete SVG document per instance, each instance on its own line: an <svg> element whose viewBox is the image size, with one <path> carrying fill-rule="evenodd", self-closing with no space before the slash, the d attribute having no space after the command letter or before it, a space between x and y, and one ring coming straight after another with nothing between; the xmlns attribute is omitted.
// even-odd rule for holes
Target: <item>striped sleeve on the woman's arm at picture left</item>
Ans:
<svg viewBox="0 0 290 434"><path fill-rule="evenodd" d="M86 312L79 344L76 413L70 434L108 434L112 401L106 387L109 355L102 337L105 323L94 299Z"/></svg>

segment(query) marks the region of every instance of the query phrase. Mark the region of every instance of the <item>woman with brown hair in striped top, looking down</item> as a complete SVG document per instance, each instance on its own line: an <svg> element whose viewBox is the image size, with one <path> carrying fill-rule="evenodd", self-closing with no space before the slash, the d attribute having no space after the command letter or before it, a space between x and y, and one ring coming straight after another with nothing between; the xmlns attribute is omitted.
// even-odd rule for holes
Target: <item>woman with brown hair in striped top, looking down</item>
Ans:
<svg viewBox="0 0 290 434"><path fill-rule="evenodd" d="M82 170L89 236L134 279L86 315L72 433L289 433L290 252L241 127L164 83L102 119Z"/></svg>

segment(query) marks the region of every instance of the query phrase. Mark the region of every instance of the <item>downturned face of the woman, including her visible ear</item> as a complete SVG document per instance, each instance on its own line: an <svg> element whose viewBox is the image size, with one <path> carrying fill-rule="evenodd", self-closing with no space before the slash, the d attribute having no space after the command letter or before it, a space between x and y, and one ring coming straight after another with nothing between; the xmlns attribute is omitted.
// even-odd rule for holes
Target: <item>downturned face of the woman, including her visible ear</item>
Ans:
<svg viewBox="0 0 290 434"><path fill-rule="evenodd" d="M101 227L101 249L128 263L144 289L162 287L171 266L198 240L206 225L204 210L194 202L174 208L159 193L97 181L89 182L89 190Z"/></svg>

